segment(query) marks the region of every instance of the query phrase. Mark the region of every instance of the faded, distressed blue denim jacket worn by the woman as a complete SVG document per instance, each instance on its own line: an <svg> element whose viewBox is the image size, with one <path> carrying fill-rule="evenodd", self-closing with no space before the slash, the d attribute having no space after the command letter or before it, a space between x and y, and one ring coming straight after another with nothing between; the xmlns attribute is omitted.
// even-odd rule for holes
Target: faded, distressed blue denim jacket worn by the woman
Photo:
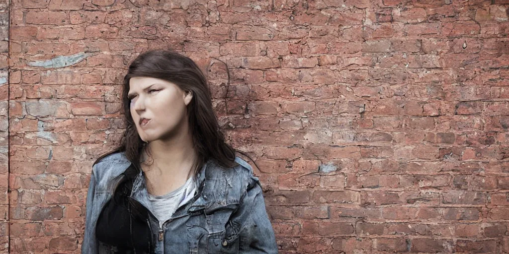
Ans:
<svg viewBox="0 0 509 254"><path fill-rule="evenodd" d="M155 253L278 253L262 188L252 168L240 157L239 165L224 169L207 162L197 177L199 197L181 206L159 227L151 217ZM93 166L86 202L82 254L115 253L97 240L95 227L102 208L131 165L123 152L110 154ZM136 180L133 199L149 207L145 180Z"/></svg>

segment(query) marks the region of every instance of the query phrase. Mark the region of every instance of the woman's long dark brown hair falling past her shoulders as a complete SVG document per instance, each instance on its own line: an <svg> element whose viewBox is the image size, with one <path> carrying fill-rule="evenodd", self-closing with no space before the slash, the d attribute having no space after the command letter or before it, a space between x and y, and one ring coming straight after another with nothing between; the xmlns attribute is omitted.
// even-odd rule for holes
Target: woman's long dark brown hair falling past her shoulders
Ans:
<svg viewBox="0 0 509 254"><path fill-rule="evenodd" d="M94 164L109 154L123 151L128 160L135 165L137 170L140 170L140 155L147 148L147 143L139 137L130 114L130 100L127 93L129 92L129 80L133 77L163 79L176 84L186 92L192 92L193 97L187 105L187 112L197 160L193 164L191 174L196 176L210 158L225 168L236 166L236 151L253 161L249 155L234 149L225 142L212 108L207 79L196 63L189 57L173 50L151 50L138 55L132 61L124 77L122 113L126 129L121 143L114 150L100 156ZM147 152L150 153L148 150Z"/></svg>

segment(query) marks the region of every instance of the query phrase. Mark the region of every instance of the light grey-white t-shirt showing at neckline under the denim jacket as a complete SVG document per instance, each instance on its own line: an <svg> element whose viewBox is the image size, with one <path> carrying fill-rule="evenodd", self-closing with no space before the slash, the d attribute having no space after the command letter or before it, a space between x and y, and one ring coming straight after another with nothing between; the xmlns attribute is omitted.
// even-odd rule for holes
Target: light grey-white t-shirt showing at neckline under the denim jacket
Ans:
<svg viewBox="0 0 509 254"><path fill-rule="evenodd" d="M149 194L151 207L150 211L159 220L159 228L172 217L175 211L192 199L196 191L194 177L189 177L184 185L163 196Z"/></svg>

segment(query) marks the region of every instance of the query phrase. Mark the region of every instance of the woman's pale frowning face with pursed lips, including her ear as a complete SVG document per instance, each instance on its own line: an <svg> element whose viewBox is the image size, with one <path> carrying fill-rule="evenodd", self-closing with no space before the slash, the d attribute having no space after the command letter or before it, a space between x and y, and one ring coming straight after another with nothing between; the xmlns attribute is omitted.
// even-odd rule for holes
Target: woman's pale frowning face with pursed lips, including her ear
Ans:
<svg viewBox="0 0 509 254"><path fill-rule="evenodd" d="M134 77L129 80L128 98L140 138L151 142L171 138L179 132L182 123L187 121L186 106L192 94L169 81Z"/></svg>

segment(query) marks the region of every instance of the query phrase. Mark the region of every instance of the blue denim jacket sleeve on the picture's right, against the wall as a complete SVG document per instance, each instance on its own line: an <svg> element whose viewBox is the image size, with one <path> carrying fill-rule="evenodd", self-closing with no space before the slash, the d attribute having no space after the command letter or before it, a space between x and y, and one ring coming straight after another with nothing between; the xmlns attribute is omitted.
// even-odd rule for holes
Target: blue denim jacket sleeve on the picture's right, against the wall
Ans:
<svg viewBox="0 0 509 254"><path fill-rule="evenodd" d="M241 217L244 217L245 221L239 232L239 253L278 253L258 177L251 176L240 210L241 214L244 213Z"/></svg>

